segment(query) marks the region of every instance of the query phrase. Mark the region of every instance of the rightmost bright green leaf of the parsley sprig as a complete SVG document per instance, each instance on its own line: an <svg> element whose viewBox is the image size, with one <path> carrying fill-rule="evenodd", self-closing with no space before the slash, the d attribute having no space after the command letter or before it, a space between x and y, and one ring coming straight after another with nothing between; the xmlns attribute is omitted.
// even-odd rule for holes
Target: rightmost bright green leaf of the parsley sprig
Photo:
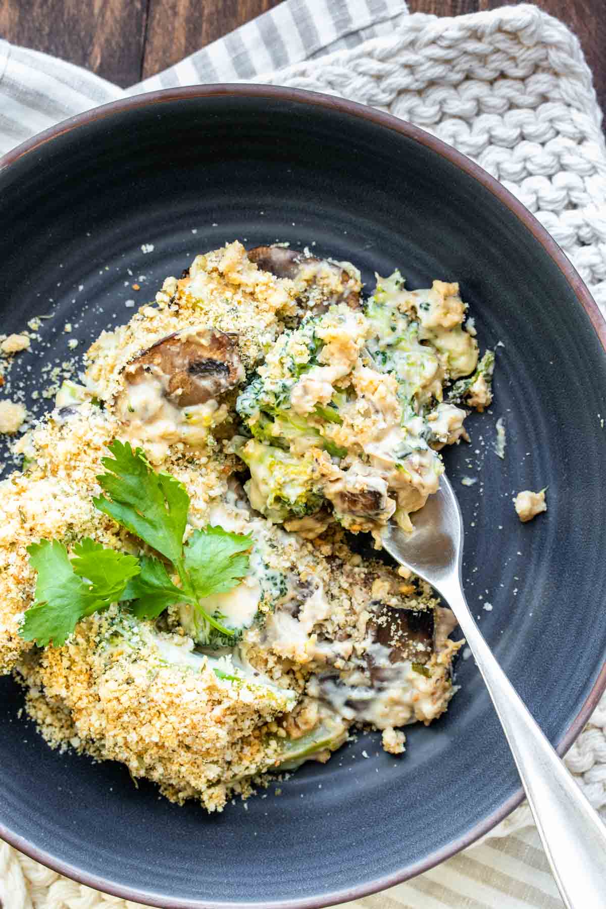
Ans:
<svg viewBox="0 0 606 909"><path fill-rule="evenodd" d="M223 527L194 530L185 544L185 568L196 596L225 594L240 584L248 572L252 545L251 535L230 534Z"/></svg>

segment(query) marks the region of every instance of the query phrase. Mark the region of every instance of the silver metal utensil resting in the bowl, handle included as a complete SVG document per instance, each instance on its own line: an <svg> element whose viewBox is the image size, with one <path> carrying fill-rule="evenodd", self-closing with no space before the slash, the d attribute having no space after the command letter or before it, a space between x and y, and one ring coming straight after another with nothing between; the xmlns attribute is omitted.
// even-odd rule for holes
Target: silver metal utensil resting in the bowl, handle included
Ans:
<svg viewBox="0 0 606 909"><path fill-rule="evenodd" d="M512 749L551 871L569 909L606 906L606 825L574 783L473 621L462 592L462 514L444 476L414 515L385 528L383 547L441 594L462 628Z"/></svg>

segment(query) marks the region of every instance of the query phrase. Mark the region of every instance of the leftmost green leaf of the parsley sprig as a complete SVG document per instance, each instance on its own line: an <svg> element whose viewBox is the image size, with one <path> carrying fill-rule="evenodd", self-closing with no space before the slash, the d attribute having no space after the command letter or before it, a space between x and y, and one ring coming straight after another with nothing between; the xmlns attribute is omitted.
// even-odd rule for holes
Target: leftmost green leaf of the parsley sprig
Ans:
<svg viewBox="0 0 606 909"><path fill-rule="evenodd" d="M92 542L84 541L81 545L81 566L84 561L87 571L90 568L87 563L90 562L92 555L89 544ZM103 546L99 549L103 553L107 552ZM58 540L52 542L41 540L40 543L33 543L27 547L27 552L30 564L37 571L38 577L34 605L25 612L20 634L25 641L35 641L40 647L45 647L51 642L55 647L65 644L65 639L72 634L80 619L97 610L105 609L119 599L126 584L126 572L132 574L133 571L139 570L136 559L130 555L122 556L122 559L128 561L121 564L122 580L119 581L117 572L112 576L105 560L105 584L103 589L97 591L94 584L87 583L83 577L75 573L64 544ZM103 561L99 550L95 550L95 558ZM89 577L88 580L92 581L92 578Z"/></svg>

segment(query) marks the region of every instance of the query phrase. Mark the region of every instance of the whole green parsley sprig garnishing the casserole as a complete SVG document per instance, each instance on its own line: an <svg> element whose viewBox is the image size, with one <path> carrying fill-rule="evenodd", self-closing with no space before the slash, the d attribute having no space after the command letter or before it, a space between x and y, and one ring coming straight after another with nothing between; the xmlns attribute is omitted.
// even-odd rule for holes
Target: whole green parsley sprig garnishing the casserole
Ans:
<svg viewBox="0 0 606 909"><path fill-rule="evenodd" d="M102 459L106 473L97 477L104 494L93 500L94 506L164 561L155 555L136 558L118 553L90 539L75 545L71 560L58 540L30 545L30 564L38 574L35 602L25 612L22 636L40 646L51 642L60 646L80 619L112 603L130 601L142 619L157 618L172 604L188 603L216 631L231 637L233 629L204 609L204 599L226 593L242 581L253 538L207 526L194 530L184 543L190 504L184 484L154 471L141 448L133 451L129 443L117 440L108 448L113 456Z"/></svg>

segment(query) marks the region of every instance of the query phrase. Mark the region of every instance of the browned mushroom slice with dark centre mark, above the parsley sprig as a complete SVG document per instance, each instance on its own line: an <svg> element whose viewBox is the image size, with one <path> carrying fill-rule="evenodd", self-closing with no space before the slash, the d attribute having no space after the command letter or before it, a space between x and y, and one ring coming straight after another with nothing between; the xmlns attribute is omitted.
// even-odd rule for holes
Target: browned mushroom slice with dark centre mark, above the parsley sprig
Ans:
<svg viewBox="0 0 606 909"><path fill-rule="evenodd" d="M188 328L167 335L124 368L130 386L150 376L160 380L164 396L178 407L216 400L244 378L235 335L216 328Z"/></svg>

